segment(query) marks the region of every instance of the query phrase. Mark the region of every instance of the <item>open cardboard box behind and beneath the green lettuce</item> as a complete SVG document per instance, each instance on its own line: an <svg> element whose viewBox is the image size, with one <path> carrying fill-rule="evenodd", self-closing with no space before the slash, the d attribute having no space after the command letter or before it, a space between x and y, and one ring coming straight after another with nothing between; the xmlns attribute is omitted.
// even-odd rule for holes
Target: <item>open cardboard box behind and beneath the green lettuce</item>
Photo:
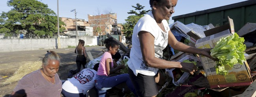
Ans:
<svg viewBox="0 0 256 97"><path fill-rule="evenodd" d="M229 24L216 27L205 31L207 37L198 39L196 48L214 48L220 38L232 36L234 34L233 20L228 17ZM200 56L203 63L203 69L209 81L211 88L223 88L231 86L246 86L252 83L250 70L245 60L243 65L236 64L232 68L226 68L229 72L228 75L217 75L214 66L215 61L212 59Z"/></svg>

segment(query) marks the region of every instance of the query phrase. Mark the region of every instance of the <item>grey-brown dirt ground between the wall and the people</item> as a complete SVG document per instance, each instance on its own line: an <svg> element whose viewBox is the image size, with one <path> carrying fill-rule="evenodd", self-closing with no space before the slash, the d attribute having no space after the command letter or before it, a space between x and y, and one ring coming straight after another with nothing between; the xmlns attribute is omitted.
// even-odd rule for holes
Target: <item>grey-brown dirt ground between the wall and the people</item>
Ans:
<svg viewBox="0 0 256 97"><path fill-rule="evenodd" d="M90 52L95 59L102 55L102 49L94 49L104 47L105 46L95 46L86 47L86 49L91 50ZM67 80L69 70L75 70L77 68L75 63L75 48L59 48L49 50L57 52L62 57L58 75L60 79ZM42 61L46 51L47 49L0 53L0 97L9 97L9 94L17 85L17 81L11 84L2 83L11 77L15 71L18 70L19 66L24 65L25 63ZM4 76L7 77L3 78Z"/></svg>

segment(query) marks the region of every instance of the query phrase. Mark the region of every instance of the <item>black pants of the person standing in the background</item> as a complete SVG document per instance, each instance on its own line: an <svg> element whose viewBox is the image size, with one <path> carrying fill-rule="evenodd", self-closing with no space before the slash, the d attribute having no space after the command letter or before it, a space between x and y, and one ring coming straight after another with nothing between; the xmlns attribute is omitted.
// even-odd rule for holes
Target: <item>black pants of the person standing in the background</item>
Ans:
<svg viewBox="0 0 256 97"><path fill-rule="evenodd" d="M86 58L85 58L84 55L77 55L77 58L76 58L75 62L77 63L77 71L76 71L76 73L78 73L81 70L81 65L83 66L83 68L85 68Z"/></svg>

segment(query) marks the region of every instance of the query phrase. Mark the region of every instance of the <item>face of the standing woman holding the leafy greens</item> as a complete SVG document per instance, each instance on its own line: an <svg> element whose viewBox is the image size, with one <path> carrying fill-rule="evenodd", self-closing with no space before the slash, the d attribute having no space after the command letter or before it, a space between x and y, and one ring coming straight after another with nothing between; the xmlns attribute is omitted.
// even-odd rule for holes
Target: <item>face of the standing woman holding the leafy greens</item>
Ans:
<svg viewBox="0 0 256 97"><path fill-rule="evenodd" d="M174 13L174 7L177 4L177 0L166 0L161 5L156 5L156 18L162 20L169 20L172 13Z"/></svg>

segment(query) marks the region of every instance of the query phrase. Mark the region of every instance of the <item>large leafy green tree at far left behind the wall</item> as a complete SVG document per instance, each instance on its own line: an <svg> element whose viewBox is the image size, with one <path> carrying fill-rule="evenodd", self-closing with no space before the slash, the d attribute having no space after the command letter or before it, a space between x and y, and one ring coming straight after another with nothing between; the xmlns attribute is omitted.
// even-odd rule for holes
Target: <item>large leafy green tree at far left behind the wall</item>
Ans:
<svg viewBox="0 0 256 97"><path fill-rule="evenodd" d="M4 20L0 33L5 36L17 36L19 31L26 30L29 38L50 38L57 33L57 16L48 5L38 0L9 0L7 5L13 9L2 13ZM60 31L64 22L60 21Z"/></svg>

